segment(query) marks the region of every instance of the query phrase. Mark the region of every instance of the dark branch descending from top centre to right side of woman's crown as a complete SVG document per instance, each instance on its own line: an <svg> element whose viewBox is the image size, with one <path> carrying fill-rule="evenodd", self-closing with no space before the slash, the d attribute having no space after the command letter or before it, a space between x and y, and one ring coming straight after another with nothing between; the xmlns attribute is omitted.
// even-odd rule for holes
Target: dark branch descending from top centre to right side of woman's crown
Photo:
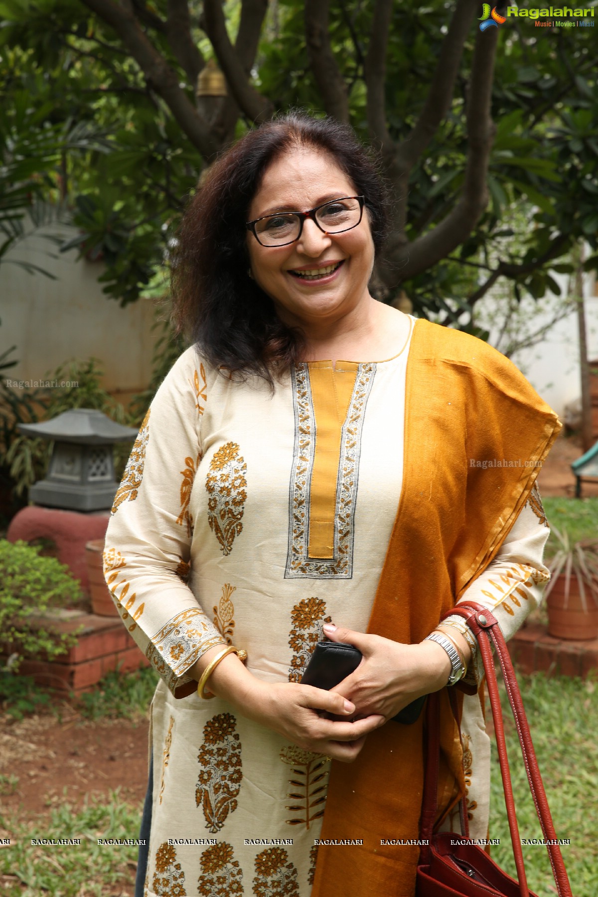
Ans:
<svg viewBox="0 0 598 897"><path fill-rule="evenodd" d="M305 36L311 70L316 78L326 114L349 121L349 94L328 33L330 0L305 0Z"/></svg>

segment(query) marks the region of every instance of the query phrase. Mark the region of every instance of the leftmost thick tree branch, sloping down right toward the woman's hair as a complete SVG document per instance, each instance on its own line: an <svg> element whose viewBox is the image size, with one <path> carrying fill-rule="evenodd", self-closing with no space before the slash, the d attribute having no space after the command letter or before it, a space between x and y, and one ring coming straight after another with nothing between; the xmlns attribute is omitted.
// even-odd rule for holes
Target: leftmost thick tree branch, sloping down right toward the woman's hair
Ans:
<svg viewBox="0 0 598 897"><path fill-rule="evenodd" d="M178 74L169 66L166 59L153 47L143 33L132 9L119 6L112 0L81 0L81 3L100 16L113 28L137 65L141 68L145 79L164 100L173 117L178 121L181 130L192 144L210 158L218 152L218 144L200 117L197 109L189 100L186 92L178 84Z"/></svg>

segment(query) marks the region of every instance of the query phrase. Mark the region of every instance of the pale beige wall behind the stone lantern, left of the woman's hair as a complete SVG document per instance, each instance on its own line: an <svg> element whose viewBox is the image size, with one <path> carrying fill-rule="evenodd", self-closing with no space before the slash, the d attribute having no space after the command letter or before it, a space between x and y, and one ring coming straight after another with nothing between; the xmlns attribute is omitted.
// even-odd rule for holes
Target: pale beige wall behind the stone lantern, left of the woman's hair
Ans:
<svg viewBox="0 0 598 897"><path fill-rule="evenodd" d="M76 233L64 226L56 231L69 238ZM11 358L19 364L5 370L4 378L45 379L59 364L93 355L102 361L103 385L109 391L145 388L152 370L152 301L139 300L121 309L97 281L101 263L76 257L74 249L59 254L37 234L7 253L0 265L0 353L16 344ZM17 259L57 279L28 274L12 264Z"/></svg>

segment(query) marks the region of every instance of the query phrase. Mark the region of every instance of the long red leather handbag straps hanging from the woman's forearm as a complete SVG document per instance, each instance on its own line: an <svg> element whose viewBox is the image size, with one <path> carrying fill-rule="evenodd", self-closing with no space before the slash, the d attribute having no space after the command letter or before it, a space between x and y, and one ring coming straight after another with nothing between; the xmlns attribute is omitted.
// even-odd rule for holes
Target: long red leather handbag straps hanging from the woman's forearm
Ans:
<svg viewBox="0 0 598 897"><path fill-rule="evenodd" d="M550 858L550 866L552 867L552 875L557 886L557 892L559 893L559 897L573 897L571 886L568 881L567 871L565 869L565 864L563 863L563 858L561 856L559 845L557 843L558 839L556 832L554 831L554 825L552 823L552 817L550 815L548 800L546 799L546 792L544 791L544 786L542 784L542 776L540 774L536 755L533 750L530 727L528 726L527 718L525 717L524 704L521 699L521 693L519 692L519 686L517 685L515 670L513 669L511 658L508 654L507 643L502 632L500 631L500 627L498 626L498 621L494 614L492 614L486 607L484 607L483 605L479 605L474 601L467 601L463 604L455 605L455 607L451 608L449 614L447 615L450 614L459 614L460 616L464 617L464 620L472 630L473 635L478 640L481 658L484 664L484 672L486 674L486 683L488 686L488 693L490 697L492 718L494 720L494 731L496 734L498 747L500 773L502 776L503 787L505 791L505 804L507 806L508 824L509 830L511 832L511 841L513 843L513 853L515 855L517 875L520 887L522 889L522 897L528 897L529 889L527 887L527 882L525 879L524 858L517 827L515 800L513 797L510 771L508 768L505 728L503 725L502 708L500 706L500 695L498 693L497 675L494 667L494 659L492 658L491 645L494 646L498 657L498 662L502 670L502 675L505 679L508 701L511 705L513 717L515 718L517 735L519 736L519 744L521 745L521 751L524 756L525 772L527 774L527 780L532 792L533 804L535 806L536 814L538 815L538 819L542 827L544 840L548 842L547 848ZM430 745L430 753L436 752L433 753L433 755L438 758L438 726L436 726L435 728L437 730L437 734L433 738L433 744ZM438 762L436 766L438 770ZM427 795L427 797L429 797L429 795ZM436 791L433 795L433 798L434 804L436 805ZM435 815L436 807L434 807L433 810L432 824Z"/></svg>

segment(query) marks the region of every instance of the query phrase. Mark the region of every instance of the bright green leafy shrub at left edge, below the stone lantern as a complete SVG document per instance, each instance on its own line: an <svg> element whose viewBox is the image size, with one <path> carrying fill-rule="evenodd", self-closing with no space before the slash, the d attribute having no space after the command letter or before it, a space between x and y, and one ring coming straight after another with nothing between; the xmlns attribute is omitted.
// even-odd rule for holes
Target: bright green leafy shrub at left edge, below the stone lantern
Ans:
<svg viewBox="0 0 598 897"><path fill-rule="evenodd" d="M39 545L0 539L0 639L11 671L23 654L55 658L76 641L74 633L58 635L43 625L30 626L32 617L75 605L82 597L79 581L65 564L39 552Z"/></svg>

